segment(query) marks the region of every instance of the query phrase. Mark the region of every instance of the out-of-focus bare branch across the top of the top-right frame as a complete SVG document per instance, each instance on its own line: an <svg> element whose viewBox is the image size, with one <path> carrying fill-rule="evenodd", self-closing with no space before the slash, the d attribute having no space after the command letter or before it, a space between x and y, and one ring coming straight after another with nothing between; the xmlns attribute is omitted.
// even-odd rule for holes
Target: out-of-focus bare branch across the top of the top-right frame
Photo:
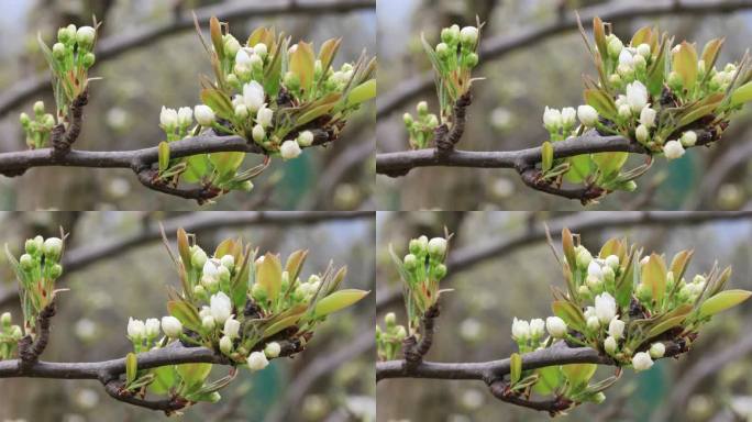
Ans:
<svg viewBox="0 0 752 422"><path fill-rule="evenodd" d="M579 11L583 24L589 24L594 16L604 21L618 23L639 16L657 15L707 15L709 13L731 13L740 9L752 8L752 0L654 0L650 2L630 3L613 1L604 5L596 5ZM490 63L509 53L529 47L552 36L577 29L574 13L565 19L555 19L543 25L530 25L515 30L512 34L501 34L483 42L480 48L480 64ZM380 93L377 99L376 118L383 119L405 107L411 99L428 92L433 88L433 75L424 73L399 84L389 92Z"/></svg>

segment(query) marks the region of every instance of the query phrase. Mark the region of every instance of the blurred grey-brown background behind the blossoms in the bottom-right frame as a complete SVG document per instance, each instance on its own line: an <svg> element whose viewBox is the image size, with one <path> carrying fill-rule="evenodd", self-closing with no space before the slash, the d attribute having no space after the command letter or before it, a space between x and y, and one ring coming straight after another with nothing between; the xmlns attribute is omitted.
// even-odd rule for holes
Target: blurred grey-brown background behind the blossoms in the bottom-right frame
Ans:
<svg viewBox="0 0 752 422"><path fill-rule="evenodd" d="M564 287L561 268L545 242L543 223L582 234L598 251L613 236L627 236L645 248L673 256L694 248L688 274L708 271L714 262L733 267L729 288L752 288L752 215L729 213L642 212L413 212L378 213L377 321L397 312L406 324L399 276L388 256L398 256L410 238L455 233L450 243L449 276L442 288L441 316L427 360L487 362L517 352L511 321L551 315L550 286ZM752 418L752 306L745 303L715 318L692 351L659 360L635 376L626 370L599 406L584 404L561 421L749 421ZM612 368L600 368L602 379ZM497 401L480 381L385 379L376 389L379 421L550 421L542 412Z"/></svg>

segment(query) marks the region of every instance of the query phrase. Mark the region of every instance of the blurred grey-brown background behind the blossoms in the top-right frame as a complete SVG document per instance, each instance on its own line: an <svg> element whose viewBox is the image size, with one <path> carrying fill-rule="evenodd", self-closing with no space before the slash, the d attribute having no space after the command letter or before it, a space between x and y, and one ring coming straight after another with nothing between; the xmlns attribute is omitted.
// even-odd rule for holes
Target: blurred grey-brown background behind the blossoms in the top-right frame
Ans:
<svg viewBox="0 0 752 422"><path fill-rule="evenodd" d="M430 64L420 44L420 33L435 44L442 27L452 23L475 24L476 14L486 22L484 45L505 45L531 31L554 25L560 13L574 10L590 15L616 9L667 4L673 0L379 0L378 41L383 66L378 74L379 110L377 151L408 149L402 114L421 99L436 110L433 85L418 95L392 100L413 88ZM694 1L703 3L703 1ZM720 3L720 2L719 2ZM752 4L732 12L640 15L621 20L615 33L622 40L643 25L660 25L676 41L689 40L701 48L715 37L726 37L719 63L736 62L750 47ZM485 43L485 44L484 44ZM577 31L544 34L522 48L484 60L474 76L485 77L474 89L468 124L460 148L513 151L539 146L548 138L542 116L545 106L561 109L582 99L582 75L595 75ZM389 102L397 107L383 110ZM618 192L593 207L621 209L741 209L752 200L752 112L737 115L720 144L693 151L682 159L656 160L633 193ZM380 210L580 210L576 201L532 191L509 169L418 168L407 177L376 177Z"/></svg>

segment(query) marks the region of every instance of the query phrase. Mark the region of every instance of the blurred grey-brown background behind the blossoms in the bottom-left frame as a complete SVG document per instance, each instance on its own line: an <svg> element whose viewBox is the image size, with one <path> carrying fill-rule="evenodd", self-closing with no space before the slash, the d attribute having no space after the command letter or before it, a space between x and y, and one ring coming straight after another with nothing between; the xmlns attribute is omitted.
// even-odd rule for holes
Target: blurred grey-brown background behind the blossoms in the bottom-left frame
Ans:
<svg viewBox="0 0 752 422"><path fill-rule="evenodd" d="M0 214L2 243L16 253L26 237L70 232L58 287L58 312L49 346L53 362L95 362L125 356L129 316L165 314L167 285L179 281L158 222L175 251L178 226L197 233L207 251L226 237L242 236L261 252L310 255L302 275L323 271L330 259L347 266L343 286L374 289L374 214L357 213L142 213L24 212ZM15 280L0 257L0 312L20 319ZM263 371L241 370L215 404L200 403L185 421L373 421L374 296L320 325L308 348L294 359L277 359ZM224 374L217 368L217 375ZM112 400L91 380L0 379L0 421L156 421L163 413Z"/></svg>

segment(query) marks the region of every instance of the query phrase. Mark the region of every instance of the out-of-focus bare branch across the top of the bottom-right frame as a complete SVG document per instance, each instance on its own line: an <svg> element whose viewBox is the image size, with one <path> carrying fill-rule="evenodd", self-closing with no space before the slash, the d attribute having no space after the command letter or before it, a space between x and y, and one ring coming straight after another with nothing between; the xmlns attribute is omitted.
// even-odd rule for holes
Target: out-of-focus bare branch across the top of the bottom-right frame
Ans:
<svg viewBox="0 0 752 422"><path fill-rule="evenodd" d="M632 225L696 225L717 220L752 219L752 211L620 211L620 212L579 212L569 216L549 220L546 224L555 237L562 229L569 227L580 234L597 232L606 227L627 227ZM451 276L468 269L486 259L499 258L521 247L545 241L545 226L542 223L530 226L527 231L485 242L465 246L452 252L446 267ZM400 288L389 288L376 293L376 309L381 310L398 303L401 298Z"/></svg>

